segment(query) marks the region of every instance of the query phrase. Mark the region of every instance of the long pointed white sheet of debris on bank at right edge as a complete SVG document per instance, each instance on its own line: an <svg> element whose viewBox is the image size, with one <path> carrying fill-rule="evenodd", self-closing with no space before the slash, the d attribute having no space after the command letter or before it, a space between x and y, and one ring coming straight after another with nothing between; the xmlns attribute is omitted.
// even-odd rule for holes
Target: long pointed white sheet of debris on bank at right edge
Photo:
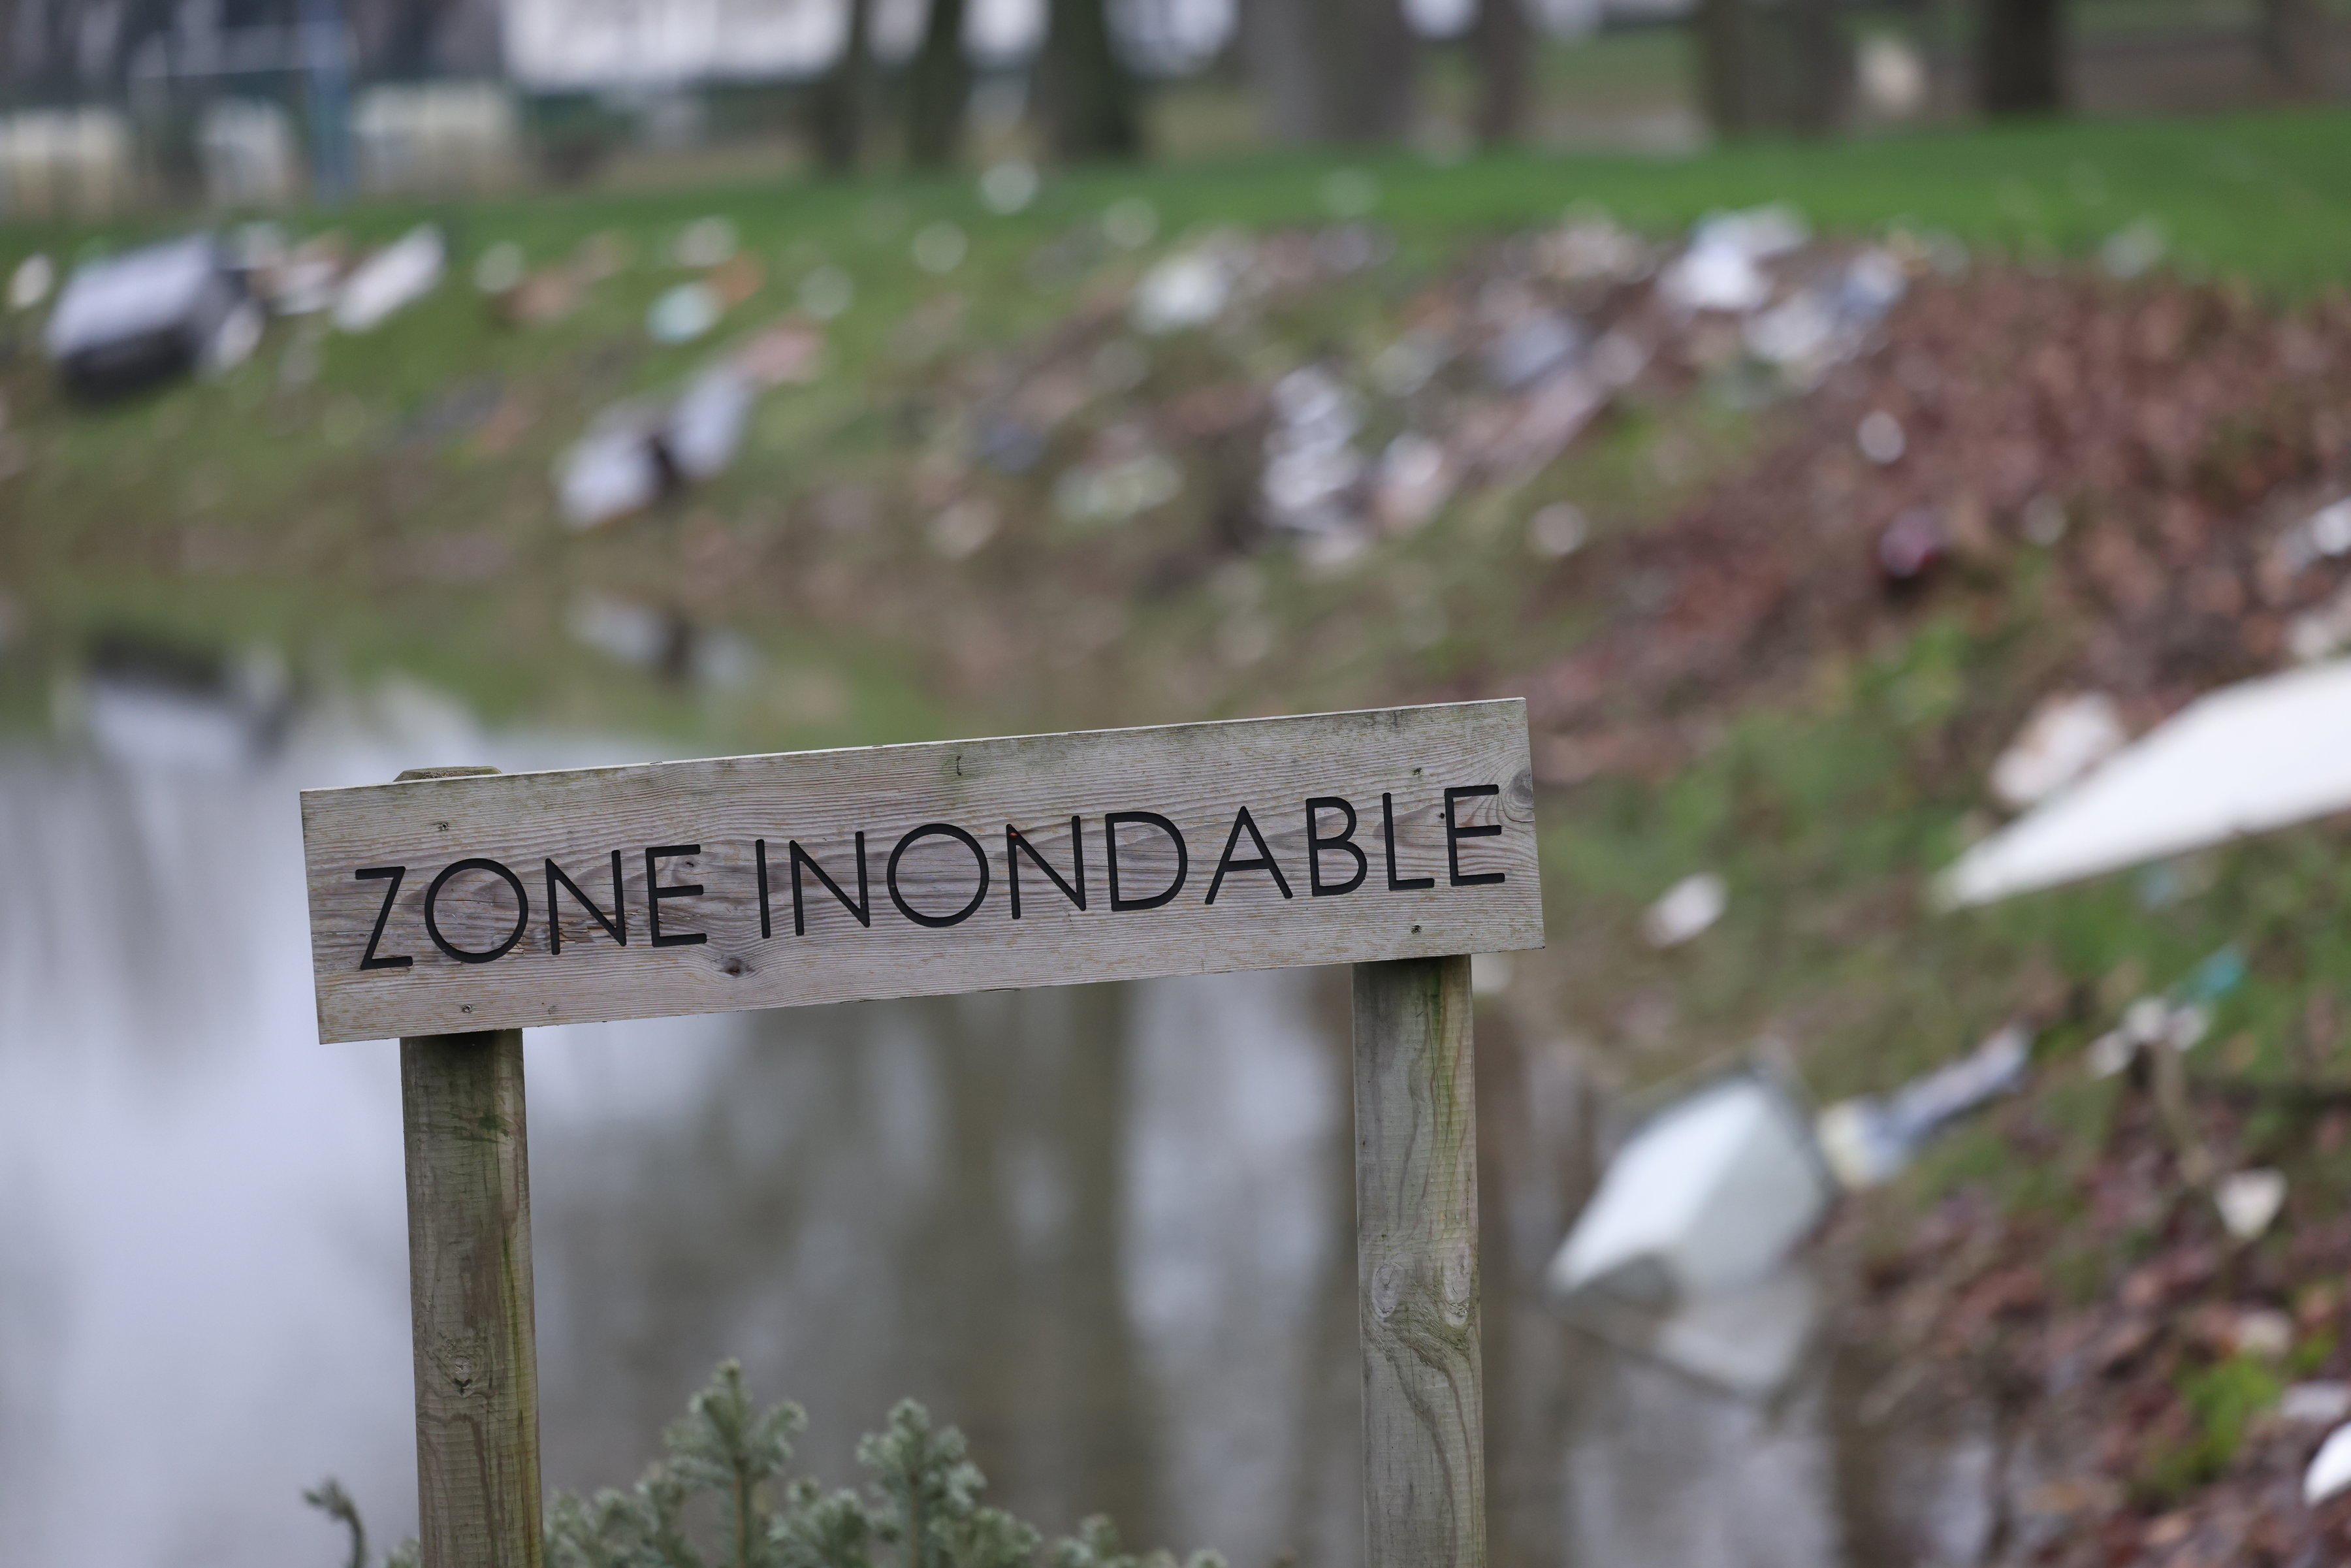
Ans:
<svg viewBox="0 0 2351 1568"><path fill-rule="evenodd" d="M1954 905L2078 882L2351 806L2351 661L2198 698L2078 785L1975 844Z"/></svg>

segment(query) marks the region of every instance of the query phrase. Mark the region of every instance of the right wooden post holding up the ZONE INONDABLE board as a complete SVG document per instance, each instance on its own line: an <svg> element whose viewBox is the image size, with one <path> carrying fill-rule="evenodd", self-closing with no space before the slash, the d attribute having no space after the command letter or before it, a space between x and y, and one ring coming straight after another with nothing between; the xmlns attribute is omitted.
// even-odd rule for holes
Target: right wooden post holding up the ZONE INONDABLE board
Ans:
<svg viewBox="0 0 2351 1568"><path fill-rule="evenodd" d="M1354 966L1368 1568L1483 1568L1469 959Z"/></svg>

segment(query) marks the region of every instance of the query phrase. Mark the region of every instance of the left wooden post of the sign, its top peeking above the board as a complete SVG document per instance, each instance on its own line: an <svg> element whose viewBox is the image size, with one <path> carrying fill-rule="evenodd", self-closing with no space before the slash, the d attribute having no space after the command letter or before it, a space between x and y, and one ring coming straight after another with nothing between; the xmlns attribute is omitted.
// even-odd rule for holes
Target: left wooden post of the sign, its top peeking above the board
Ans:
<svg viewBox="0 0 2351 1568"><path fill-rule="evenodd" d="M402 1039L400 1110L423 1568L541 1568L522 1030Z"/></svg>

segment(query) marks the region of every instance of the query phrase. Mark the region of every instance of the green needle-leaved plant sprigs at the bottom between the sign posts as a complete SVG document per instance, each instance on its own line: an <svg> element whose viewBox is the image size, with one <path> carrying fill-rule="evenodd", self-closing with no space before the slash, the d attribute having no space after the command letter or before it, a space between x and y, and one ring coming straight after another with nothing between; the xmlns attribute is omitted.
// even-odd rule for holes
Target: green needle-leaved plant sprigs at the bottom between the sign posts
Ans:
<svg viewBox="0 0 2351 1568"><path fill-rule="evenodd" d="M882 1432L858 1441L863 1490L825 1488L790 1476L792 1436L806 1425L785 1401L759 1410L743 1368L724 1361L686 1413L663 1434L663 1458L637 1486L592 1497L557 1493L548 1509L550 1568L1178 1568L1171 1552L1133 1554L1110 1519L1096 1516L1074 1537L1039 1556L1044 1535L1004 1509L980 1502L987 1476L971 1462L964 1434L933 1427L912 1399L889 1413ZM334 1481L303 1493L353 1533L353 1568L364 1566L360 1514ZM708 1516L717 1528L691 1530ZM703 1556L698 1535L712 1535ZM386 1568L416 1568L404 1542ZM1194 1552L1183 1568L1225 1568L1215 1552Z"/></svg>

